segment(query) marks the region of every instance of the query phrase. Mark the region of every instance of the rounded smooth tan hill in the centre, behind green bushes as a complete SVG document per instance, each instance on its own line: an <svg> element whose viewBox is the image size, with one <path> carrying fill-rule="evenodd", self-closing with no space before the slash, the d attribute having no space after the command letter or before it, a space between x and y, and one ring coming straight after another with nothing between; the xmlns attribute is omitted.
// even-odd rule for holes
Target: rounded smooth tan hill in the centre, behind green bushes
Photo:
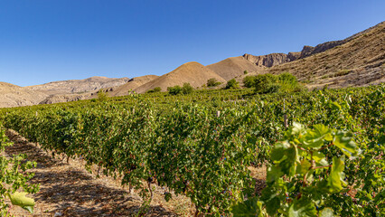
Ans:
<svg viewBox="0 0 385 217"><path fill-rule="evenodd" d="M221 82L226 82L220 75L211 71L208 67L203 66L201 63L191 61L184 63L176 70L151 80L144 85L136 88L137 93L144 93L146 90L152 90L156 87L160 87L162 91L167 90L167 87L173 87L175 85L182 86L183 83L188 82L194 88L200 88L207 83L209 79L216 79Z"/></svg>

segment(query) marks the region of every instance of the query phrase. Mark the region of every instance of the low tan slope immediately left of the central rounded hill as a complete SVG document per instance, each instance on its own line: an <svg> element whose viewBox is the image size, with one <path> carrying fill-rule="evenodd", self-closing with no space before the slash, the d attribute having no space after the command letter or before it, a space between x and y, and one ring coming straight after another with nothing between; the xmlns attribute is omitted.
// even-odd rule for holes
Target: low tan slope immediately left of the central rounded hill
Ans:
<svg viewBox="0 0 385 217"><path fill-rule="evenodd" d="M125 96L130 90L135 90L139 86L144 85L151 80L155 80L158 77L159 76L157 75L145 75L130 79L127 83L110 89L108 95L111 97Z"/></svg>

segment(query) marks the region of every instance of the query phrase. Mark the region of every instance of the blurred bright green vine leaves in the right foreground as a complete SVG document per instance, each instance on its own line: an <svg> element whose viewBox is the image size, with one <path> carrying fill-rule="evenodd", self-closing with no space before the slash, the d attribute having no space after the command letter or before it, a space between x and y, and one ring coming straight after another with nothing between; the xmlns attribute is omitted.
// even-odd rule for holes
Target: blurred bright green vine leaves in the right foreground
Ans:
<svg viewBox="0 0 385 217"><path fill-rule="evenodd" d="M333 160L324 155L336 147ZM235 205L234 216L267 212L270 216L333 216L328 201L346 186L345 156L357 156L352 134L324 125L306 129L294 123L273 147L267 184L261 197ZM250 216L250 215L249 215Z"/></svg>

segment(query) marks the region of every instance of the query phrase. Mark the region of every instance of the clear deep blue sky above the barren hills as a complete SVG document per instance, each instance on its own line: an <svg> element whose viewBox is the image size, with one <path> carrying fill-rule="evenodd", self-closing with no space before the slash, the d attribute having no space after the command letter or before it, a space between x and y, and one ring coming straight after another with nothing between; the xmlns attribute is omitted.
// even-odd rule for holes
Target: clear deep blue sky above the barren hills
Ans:
<svg viewBox="0 0 385 217"><path fill-rule="evenodd" d="M296 52L384 20L384 0L0 0L0 81L162 75Z"/></svg>

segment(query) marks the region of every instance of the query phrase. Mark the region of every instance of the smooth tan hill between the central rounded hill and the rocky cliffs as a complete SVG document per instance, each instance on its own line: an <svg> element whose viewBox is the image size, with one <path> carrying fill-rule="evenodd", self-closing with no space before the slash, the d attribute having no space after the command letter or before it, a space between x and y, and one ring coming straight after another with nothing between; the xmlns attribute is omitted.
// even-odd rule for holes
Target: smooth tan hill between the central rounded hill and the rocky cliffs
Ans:
<svg viewBox="0 0 385 217"><path fill-rule="evenodd" d="M262 67L252 64L250 61L241 56L230 57L226 60L213 63L206 67L211 71L215 71L225 80L231 80L239 75L243 75L244 71L264 71Z"/></svg>

